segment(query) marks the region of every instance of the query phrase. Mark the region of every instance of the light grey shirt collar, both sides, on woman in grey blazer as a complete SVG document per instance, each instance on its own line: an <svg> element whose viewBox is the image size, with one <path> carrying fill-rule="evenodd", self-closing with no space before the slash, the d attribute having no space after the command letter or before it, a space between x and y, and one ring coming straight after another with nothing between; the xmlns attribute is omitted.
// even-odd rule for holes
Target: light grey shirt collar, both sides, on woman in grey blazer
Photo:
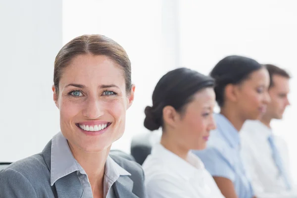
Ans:
<svg viewBox="0 0 297 198"><path fill-rule="evenodd" d="M59 132L51 140L50 185L53 186L58 179L75 171L86 174L85 170L74 158L66 138ZM131 174L108 156L105 162L104 175L112 182L115 182L120 176L130 176Z"/></svg>

